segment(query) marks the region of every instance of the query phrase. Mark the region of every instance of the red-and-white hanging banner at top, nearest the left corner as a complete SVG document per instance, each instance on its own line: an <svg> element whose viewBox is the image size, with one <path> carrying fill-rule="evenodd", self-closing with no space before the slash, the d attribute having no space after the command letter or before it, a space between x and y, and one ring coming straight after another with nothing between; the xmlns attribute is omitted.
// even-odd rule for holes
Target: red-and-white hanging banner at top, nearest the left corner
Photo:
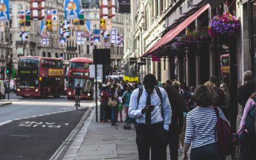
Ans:
<svg viewBox="0 0 256 160"><path fill-rule="evenodd" d="M45 17L45 0L30 0L31 20L42 20Z"/></svg>

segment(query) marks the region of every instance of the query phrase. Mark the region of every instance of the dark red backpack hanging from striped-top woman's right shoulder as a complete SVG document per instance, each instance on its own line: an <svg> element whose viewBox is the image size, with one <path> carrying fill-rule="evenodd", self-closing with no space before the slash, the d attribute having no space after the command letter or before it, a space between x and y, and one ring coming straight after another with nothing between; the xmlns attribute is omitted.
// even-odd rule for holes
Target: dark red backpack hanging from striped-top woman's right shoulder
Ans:
<svg viewBox="0 0 256 160"><path fill-rule="evenodd" d="M232 130L228 123L220 118L217 107L213 107L217 115L217 122L214 127L214 137L218 145L219 152L225 156L230 155L236 150L236 134L232 134Z"/></svg>

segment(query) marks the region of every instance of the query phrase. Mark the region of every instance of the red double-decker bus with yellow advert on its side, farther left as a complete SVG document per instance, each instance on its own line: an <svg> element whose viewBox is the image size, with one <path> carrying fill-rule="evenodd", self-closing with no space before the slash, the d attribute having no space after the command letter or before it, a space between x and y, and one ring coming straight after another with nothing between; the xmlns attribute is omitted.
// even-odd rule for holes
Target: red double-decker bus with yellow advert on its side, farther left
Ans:
<svg viewBox="0 0 256 160"><path fill-rule="evenodd" d="M64 70L61 58L22 56L17 69L16 94L23 98L65 95Z"/></svg>

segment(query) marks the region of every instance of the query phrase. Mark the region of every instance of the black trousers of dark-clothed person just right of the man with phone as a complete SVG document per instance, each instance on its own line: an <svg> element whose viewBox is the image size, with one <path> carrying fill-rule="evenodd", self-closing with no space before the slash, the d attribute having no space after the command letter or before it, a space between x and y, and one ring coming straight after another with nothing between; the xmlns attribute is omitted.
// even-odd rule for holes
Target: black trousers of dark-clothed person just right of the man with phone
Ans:
<svg viewBox="0 0 256 160"><path fill-rule="evenodd" d="M166 143L164 147L164 160L167 159L166 148L169 145L170 149L170 158L171 160L178 160L178 149L179 149L179 126L175 127L175 129L170 129L166 133Z"/></svg>

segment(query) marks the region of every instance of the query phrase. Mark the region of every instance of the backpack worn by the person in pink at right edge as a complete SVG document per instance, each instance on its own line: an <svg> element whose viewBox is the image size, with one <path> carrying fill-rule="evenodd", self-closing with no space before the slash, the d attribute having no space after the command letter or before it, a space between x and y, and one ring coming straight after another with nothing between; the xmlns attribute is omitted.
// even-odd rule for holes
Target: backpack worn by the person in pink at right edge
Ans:
<svg viewBox="0 0 256 160"><path fill-rule="evenodd" d="M256 102L256 98L253 98ZM253 104L252 108L248 111L248 115L245 118L244 127L252 134L256 133L256 104Z"/></svg>

